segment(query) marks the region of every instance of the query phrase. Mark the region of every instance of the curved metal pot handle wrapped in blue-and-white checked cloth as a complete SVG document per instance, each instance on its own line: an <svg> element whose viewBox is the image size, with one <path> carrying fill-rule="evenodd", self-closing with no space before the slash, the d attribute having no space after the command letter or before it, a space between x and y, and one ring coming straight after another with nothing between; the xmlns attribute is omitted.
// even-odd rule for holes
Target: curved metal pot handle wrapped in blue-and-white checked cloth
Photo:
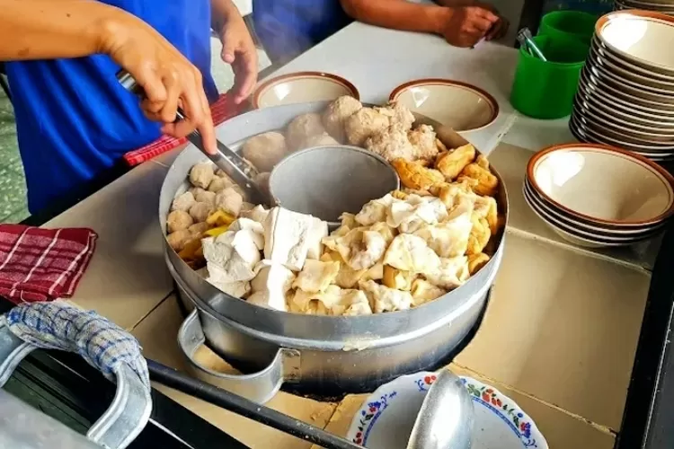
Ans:
<svg viewBox="0 0 674 449"><path fill-rule="evenodd" d="M66 321L70 321L72 327L59 325ZM108 351L113 352L115 345L123 339L125 349L137 348L137 354L140 355L136 339L96 313L64 303L22 304L15 307L6 316L0 317L0 388L9 380L22 359L35 349L59 348L79 352L80 355L83 355L83 351L92 354L93 348L102 348L94 344L93 334L106 340ZM64 340L66 336L70 339ZM111 336L114 339L110 339ZM89 345L82 345L84 342ZM97 342L100 343L100 340ZM74 348L80 348L80 351ZM101 353L93 357L105 360ZM89 357L84 358L117 383L117 392L110 408L93 423L86 436L106 449L124 449L140 434L150 418L152 399L149 381L143 379L142 373L138 374L137 366L132 368L127 363L120 363L107 366L110 368L107 370L92 363ZM144 364L143 358L141 365Z"/></svg>

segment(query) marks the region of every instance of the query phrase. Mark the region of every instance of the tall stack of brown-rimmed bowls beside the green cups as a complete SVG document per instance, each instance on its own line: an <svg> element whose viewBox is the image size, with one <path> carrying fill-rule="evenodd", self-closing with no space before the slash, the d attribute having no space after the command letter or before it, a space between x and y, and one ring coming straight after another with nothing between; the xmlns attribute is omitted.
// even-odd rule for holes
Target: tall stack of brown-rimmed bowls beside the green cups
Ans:
<svg viewBox="0 0 674 449"><path fill-rule="evenodd" d="M569 123L581 142L674 161L674 17L619 11L601 17Z"/></svg>

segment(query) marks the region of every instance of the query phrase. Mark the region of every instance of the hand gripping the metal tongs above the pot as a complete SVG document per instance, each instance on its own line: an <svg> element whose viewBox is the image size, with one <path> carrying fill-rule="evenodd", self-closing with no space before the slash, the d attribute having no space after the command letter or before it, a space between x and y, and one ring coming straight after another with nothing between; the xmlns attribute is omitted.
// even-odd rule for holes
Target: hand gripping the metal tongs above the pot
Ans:
<svg viewBox="0 0 674 449"><path fill-rule="evenodd" d="M175 137L198 129L206 151L217 153L199 69L146 22L129 13L119 15L105 24L100 48L145 90L141 109L146 117L164 123L162 132ZM186 118L174 123L179 106Z"/></svg>

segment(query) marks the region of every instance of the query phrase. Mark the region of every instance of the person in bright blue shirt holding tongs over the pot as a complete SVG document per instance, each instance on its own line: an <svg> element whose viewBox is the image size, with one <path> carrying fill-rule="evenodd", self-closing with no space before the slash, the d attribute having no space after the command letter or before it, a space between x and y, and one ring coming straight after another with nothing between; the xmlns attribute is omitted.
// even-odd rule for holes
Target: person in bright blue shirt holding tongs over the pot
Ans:
<svg viewBox="0 0 674 449"><path fill-rule="evenodd" d="M235 101L256 82L253 40L231 0L0 0L0 11L33 213L162 133L199 129L215 151L211 29L234 69ZM145 89L140 107L117 82L120 68ZM173 123L179 105L189 119Z"/></svg>

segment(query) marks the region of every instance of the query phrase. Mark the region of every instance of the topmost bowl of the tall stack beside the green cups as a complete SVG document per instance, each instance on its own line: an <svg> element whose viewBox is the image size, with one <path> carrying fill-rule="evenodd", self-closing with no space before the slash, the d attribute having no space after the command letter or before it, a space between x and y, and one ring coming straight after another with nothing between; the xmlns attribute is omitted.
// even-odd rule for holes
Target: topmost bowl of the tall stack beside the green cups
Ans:
<svg viewBox="0 0 674 449"><path fill-rule="evenodd" d="M603 15L595 32L608 48L636 66L674 75L674 17L643 10L616 11Z"/></svg>

